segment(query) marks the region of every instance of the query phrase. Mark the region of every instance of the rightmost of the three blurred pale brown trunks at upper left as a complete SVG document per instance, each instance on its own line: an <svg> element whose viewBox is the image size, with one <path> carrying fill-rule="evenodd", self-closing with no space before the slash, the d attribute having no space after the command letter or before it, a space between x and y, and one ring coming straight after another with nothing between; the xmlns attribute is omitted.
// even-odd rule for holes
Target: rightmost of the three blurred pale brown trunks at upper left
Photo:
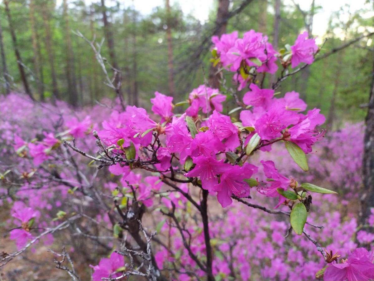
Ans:
<svg viewBox="0 0 374 281"><path fill-rule="evenodd" d="M78 105L77 95L77 81L75 78L75 67L74 67L74 53L73 47L71 46L70 37L70 26L68 16L68 3L67 0L62 1L63 15L64 15L64 30L65 30L65 42L66 42L66 79L68 81L68 97L69 103L76 107Z"/></svg>

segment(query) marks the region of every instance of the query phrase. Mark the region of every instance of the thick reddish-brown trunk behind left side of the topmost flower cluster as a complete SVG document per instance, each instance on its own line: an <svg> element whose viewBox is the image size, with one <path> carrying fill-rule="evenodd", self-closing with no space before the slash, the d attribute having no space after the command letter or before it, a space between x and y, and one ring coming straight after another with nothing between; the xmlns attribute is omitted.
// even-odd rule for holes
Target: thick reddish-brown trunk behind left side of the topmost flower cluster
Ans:
<svg viewBox="0 0 374 281"><path fill-rule="evenodd" d="M220 37L226 32L227 21L229 19L229 5L230 0L218 0L218 11L216 26L217 32L214 35ZM220 88L220 76L218 72L219 64L217 66L211 65L209 68L209 86L212 88ZM217 74L216 74L217 73Z"/></svg>

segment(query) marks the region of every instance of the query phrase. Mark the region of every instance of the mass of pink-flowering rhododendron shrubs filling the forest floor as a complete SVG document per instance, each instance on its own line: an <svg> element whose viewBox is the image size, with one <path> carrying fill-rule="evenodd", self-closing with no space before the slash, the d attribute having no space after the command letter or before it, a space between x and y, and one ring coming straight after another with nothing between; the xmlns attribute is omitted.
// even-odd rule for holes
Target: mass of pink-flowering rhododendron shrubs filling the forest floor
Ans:
<svg viewBox="0 0 374 281"><path fill-rule="evenodd" d="M116 104L74 116L64 103L53 107L16 94L2 97L0 194L10 208L7 226L18 250L1 253L1 265L37 241L51 245L54 233L68 229L70 240L59 245L71 248L52 253L62 257L57 268L73 280L80 279L74 269L79 251L102 257L91 265L95 281L132 275L310 280L316 272L322 276L320 269L325 280L373 278L362 269L373 265L373 258L354 250L355 218L331 206L347 205L333 191L352 190L337 188L347 170L350 183L360 181L358 162L334 150L337 142L346 142L347 132L318 145L325 134L319 109L303 113L307 105L294 91L275 97L285 76L270 89L257 81L259 73L275 73L279 62L283 70L312 63L319 49L307 38L300 34L289 50L276 51L253 30L242 38L237 32L213 37L212 62L234 72L239 90L249 90L240 99L231 89L238 107L227 114L227 95L206 85L175 104L156 92L152 115ZM185 106L182 114L176 114L177 106ZM315 147L331 155L324 159ZM321 170L319 161L331 170ZM335 169L335 162L347 169ZM313 174L303 175L309 166ZM331 189L308 183L325 174ZM364 230L357 239L373 241ZM320 243L334 253L354 251L340 263L339 255L325 252Z"/></svg>

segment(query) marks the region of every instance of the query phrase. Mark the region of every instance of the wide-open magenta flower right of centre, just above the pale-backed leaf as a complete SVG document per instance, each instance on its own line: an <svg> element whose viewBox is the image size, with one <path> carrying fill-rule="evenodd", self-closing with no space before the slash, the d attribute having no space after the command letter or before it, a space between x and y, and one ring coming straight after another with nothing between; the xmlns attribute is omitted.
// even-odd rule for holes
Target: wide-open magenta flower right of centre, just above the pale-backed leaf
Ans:
<svg viewBox="0 0 374 281"><path fill-rule="evenodd" d="M274 139L280 132L299 120L296 112L285 110L279 103L273 104L269 111L255 123L256 132L261 139Z"/></svg>

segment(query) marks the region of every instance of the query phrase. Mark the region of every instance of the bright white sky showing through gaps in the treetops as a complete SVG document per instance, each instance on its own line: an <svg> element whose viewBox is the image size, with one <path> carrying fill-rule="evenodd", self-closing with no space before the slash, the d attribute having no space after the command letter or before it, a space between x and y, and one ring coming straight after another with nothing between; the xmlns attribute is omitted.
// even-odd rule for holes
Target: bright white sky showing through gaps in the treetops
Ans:
<svg viewBox="0 0 374 281"><path fill-rule="evenodd" d="M61 0L60 0L61 1ZM93 0L85 0L87 4ZM95 0L94 0L95 1ZM209 12L215 9L214 5L217 0L170 0L170 4L173 5L178 3L184 13L190 13L195 18L199 19L200 22L208 20ZM294 0L298 3L303 10L309 10L312 0ZM315 6L322 6L322 9L315 15L313 19L313 35L322 36L328 26L329 17L332 12L335 12L341 6L349 5L351 11L359 10L365 6L366 0L315 0ZM140 11L143 15L149 15L154 7L164 6L165 0L120 0L125 6L132 5L134 3L135 9ZM292 6L292 0L283 0L283 3ZM107 0L107 4L110 5L110 0ZM269 7L271 9L271 7ZM370 15L373 16L374 12Z"/></svg>

